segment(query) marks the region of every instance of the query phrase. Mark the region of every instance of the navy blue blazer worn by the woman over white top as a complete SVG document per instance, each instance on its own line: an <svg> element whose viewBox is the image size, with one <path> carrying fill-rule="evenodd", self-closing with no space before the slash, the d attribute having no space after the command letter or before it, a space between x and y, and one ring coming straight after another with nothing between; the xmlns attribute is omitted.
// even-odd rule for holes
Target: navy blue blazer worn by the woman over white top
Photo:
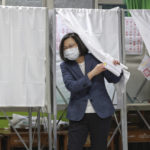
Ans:
<svg viewBox="0 0 150 150"><path fill-rule="evenodd" d="M85 55L85 75L83 75L76 61L62 62L60 67L66 88L71 92L67 109L69 120L79 121L82 119L90 99L96 113L101 118L111 116L115 109L107 93L104 77L108 82L117 83L122 74L117 77L106 70L89 80L87 73L97 64L101 63L92 54Z"/></svg>

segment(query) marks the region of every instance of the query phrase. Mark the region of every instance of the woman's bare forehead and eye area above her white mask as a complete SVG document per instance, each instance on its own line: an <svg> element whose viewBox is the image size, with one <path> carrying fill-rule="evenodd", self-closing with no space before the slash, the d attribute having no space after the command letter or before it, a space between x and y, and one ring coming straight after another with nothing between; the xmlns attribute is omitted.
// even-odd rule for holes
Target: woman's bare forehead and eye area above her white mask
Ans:
<svg viewBox="0 0 150 150"><path fill-rule="evenodd" d="M73 38L70 37L64 41L64 50L75 47L78 47L78 45Z"/></svg>

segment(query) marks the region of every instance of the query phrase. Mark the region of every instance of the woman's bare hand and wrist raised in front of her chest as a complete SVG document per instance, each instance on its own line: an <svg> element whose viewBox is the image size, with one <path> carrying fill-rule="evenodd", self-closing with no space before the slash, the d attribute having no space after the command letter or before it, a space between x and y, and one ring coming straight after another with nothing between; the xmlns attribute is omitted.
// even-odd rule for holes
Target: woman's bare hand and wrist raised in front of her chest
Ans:
<svg viewBox="0 0 150 150"><path fill-rule="evenodd" d="M105 70L106 70L106 68L105 68L104 63L97 64L95 66L95 68L88 73L88 77L89 77L89 79L92 79L94 76L100 74L101 72L103 72Z"/></svg>

